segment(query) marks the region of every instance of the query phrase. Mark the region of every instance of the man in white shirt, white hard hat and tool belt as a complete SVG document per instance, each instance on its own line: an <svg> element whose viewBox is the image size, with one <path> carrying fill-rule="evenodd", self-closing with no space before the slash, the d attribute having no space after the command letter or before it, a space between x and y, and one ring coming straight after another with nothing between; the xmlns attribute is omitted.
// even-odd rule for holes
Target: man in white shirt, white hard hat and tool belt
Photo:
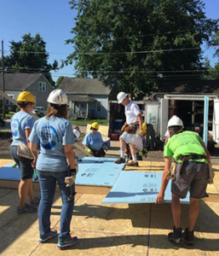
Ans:
<svg viewBox="0 0 219 256"><path fill-rule="evenodd" d="M142 116L140 109L135 102L130 101L128 95L121 91L117 96L118 103L124 105L126 122L122 127L124 133L120 136L120 149L121 155L118 160L115 160L116 164L125 163L124 151L126 144L130 145L130 152L132 156L132 162L127 166L138 166L136 159L136 153L143 148L141 136L144 134L142 129Z"/></svg>

